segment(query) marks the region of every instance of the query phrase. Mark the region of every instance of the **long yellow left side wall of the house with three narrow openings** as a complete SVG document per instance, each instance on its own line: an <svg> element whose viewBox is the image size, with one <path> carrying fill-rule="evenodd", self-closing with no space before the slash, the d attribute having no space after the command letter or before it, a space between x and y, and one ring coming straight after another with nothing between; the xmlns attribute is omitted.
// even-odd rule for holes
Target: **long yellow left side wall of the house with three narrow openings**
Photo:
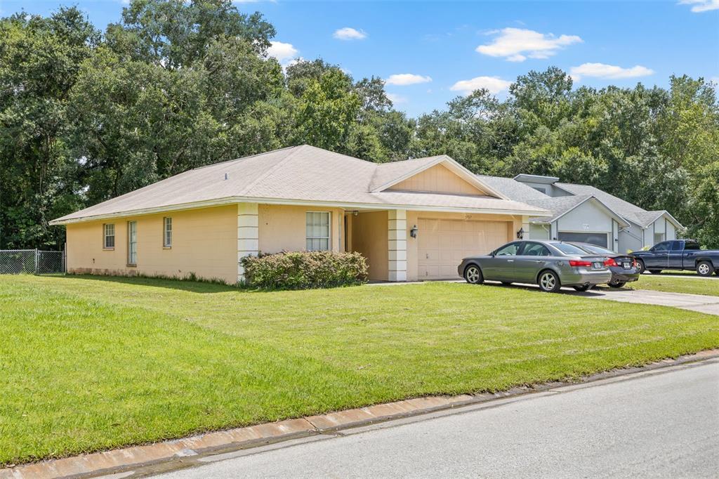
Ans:
<svg viewBox="0 0 719 479"><path fill-rule="evenodd" d="M162 218L173 219L173 245L162 246ZM137 221L137 266L127 265L127 222ZM103 249L103 224L114 223L114 250ZM166 275L237 282L237 205L127 216L67 225L68 272Z"/></svg>

